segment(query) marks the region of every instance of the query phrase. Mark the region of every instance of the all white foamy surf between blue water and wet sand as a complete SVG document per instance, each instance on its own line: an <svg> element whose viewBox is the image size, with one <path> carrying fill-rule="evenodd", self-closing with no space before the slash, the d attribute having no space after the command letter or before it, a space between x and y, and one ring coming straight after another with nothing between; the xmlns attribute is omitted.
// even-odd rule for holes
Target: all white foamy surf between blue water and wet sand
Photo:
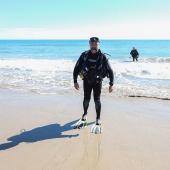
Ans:
<svg viewBox="0 0 170 170"><path fill-rule="evenodd" d="M155 59L156 60L156 59ZM146 96L170 99L170 63L110 60L118 96ZM0 59L0 87L40 94L83 94L74 90L73 60ZM82 81L79 79L82 86ZM102 94L108 94L109 80L104 79Z"/></svg>

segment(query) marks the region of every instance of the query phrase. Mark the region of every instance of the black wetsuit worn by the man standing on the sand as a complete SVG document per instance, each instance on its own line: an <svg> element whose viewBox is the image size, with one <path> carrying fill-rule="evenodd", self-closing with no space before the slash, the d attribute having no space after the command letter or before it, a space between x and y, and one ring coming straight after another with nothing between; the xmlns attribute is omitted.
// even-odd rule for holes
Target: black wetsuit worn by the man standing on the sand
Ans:
<svg viewBox="0 0 170 170"><path fill-rule="evenodd" d="M99 55L101 55L101 51L98 50L97 53L93 54L91 53L91 51L89 51L87 59L89 60L96 60ZM109 74L109 78L110 78L110 85L113 85L113 81L114 81L114 74L112 71L112 68L110 66L109 61L107 60L106 56L104 54L103 55L103 63L106 64L106 67L108 69L108 74ZM77 76L78 73L80 72L83 62L84 62L84 57L85 57L85 53L82 53L80 58L78 59L74 71L73 71L73 79L74 79L74 83L77 83ZM101 94L101 88L102 88L102 78L95 78L95 80L93 82L90 82L88 79L86 79L86 77L83 80L83 89L84 89L84 100L83 100L83 107L84 107L84 114L83 117L85 117L87 115L87 109L89 107L89 102L91 99L91 92L93 90L93 97L94 97L94 102L95 102L95 109L96 109L96 114L97 117L96 119L100 119L100 112L101 112L101 102L100 102L100 94Z"/></svg>

